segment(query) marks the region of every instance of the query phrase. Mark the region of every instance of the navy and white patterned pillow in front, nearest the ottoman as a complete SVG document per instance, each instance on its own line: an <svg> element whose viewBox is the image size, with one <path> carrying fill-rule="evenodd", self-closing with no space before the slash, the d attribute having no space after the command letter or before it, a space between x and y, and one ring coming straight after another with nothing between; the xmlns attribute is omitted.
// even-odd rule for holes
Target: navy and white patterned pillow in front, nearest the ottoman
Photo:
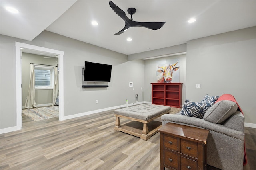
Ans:
<svg viewBox="0 0 256 170"><path fill-rule="evenodd" d="M180 115L196 117L202 119L204 114L210 107L212 107L213 103L199 103L199 102L190 102L189 100L185 100L184 106L180 111Z"/></svg>

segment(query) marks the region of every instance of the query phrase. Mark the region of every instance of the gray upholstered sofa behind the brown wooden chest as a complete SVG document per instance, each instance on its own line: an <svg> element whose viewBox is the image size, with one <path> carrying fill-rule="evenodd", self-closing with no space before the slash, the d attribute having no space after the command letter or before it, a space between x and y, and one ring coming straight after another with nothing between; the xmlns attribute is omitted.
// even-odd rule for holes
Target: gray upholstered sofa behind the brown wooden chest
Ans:
<svg viewBox="0 0 256 170"><path fill-rule="evenodd" d="M168 122L208 129L207 164L222 170L242 170L244 160L244 115L235 102L216 102L203 119L177 114L161 116Z"/></svg>

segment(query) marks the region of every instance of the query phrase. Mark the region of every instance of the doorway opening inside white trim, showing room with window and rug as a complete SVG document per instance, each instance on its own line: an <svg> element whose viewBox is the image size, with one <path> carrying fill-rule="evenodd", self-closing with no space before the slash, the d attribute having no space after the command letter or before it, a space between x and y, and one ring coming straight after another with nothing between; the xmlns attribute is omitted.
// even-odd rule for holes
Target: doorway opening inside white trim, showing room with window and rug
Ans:
<svg viewBox="0 0 256 170"><path fill-rule="evenodd" d="M58 87L55 87L59 82L55 81L58 80L58 55L28 49L21 51L22 116L33 121L59 117L58 102L55 102L55 98L58 98ZM31 66L34 67L34 90L30 89Z"/></svg>

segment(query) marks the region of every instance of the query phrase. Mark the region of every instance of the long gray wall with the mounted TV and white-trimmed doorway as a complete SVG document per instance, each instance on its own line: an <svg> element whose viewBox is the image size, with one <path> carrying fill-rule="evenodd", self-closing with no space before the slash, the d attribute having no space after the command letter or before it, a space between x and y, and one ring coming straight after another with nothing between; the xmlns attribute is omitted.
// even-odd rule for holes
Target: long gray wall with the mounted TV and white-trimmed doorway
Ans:
<svg viewBox="0 0 256 170"><path fill-rule="evenodd" d="M0 129L16 126L15 41L64 51L64 116L143 101L144 61L128 61L127 55L43 31L33 41L0 35ZM84 61L112 65L108 88L82 88ZM134 90L129 87L133 82ZM100 83L96 83L100 84ZM98 100L98 104L95 103Z"/></svg>

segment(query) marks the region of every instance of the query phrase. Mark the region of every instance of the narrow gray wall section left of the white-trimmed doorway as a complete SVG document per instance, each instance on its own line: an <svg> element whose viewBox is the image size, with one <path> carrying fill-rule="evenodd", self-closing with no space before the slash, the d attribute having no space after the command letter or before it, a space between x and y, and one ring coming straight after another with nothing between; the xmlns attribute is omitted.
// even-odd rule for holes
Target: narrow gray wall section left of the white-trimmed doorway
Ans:
<svg viewBox="0 0 256 170"><path fill-rule="evenodd" d="M16 126L15 39L0 35L0 129Z"/></svg>

